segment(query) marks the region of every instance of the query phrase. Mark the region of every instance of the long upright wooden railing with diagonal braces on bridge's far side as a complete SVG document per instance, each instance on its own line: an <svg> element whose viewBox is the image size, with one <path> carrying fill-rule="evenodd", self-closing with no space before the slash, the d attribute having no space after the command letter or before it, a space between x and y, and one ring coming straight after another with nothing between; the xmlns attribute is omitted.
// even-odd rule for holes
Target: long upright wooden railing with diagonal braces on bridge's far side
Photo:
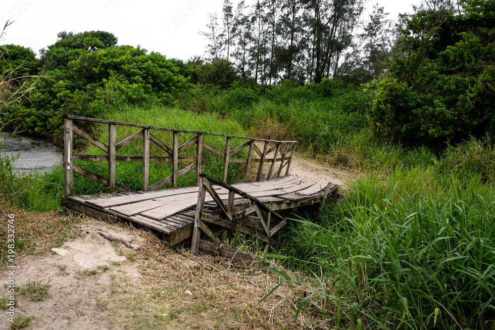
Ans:
<svg viewBox="0 0 495 330"><path fill-rule="evenodd" d="M172 183L173 188L177 188L178 179L191 171L196 170L196 185L199 186L201 174L201 158L202 150L206 149L214 154L219 155L223 158L223 172L221 181L227 183L227 174L229 170L229 164L231 163L244 163L246 164L246 169L244 172L243 182L247 181L247 176L249 173L249 168L251 163L259 163L258 170L256 174L255 181L268 180L274 177L279 177L285 170L285 175L289 173L292 158L294 156L294 151L296 149L297 141L273 141L273 140L263 140L263 139L252 139L245 137L236 137L223 134L205 133L199 131L185 131L185 130L174 130L163 127L147 126L130 124L123 122L116 122L103 119L86 118L79 116L64 115L64 178L65 178L65 196L72 195L72 175L73 173L80 174L92 180L95 180L108 187L108 192L114 192L118 189L123 192L133 191L123 185L115 182L115 164L116 162L141 162L143 163L143 176L142 176L142 190L154 190L160 189L163 186ZM97 138L93 137L91 134L83 131L74 124L74 120L77 121L87 121L95 122L108 125L108 144L99 141ZM141 128L142 130L127 137L126 139L117 142L117 126L130 126ZM164 142L156 138L151 132L155 131L166 131L172 134L172 146L169 147ZM103 150L106 155L85 155L85 154L74 154L72 141L73 133L82 137L84 140L89 141L93 145L97 146L99 149ZM179 145L179 134L193 134L195 135L189 141ZM225 150L218 150L208 143L203 141L203 136L217 136L224 137L226 139ZM123 156L117 155L117 151L121 150L130 143L143 139L143 155L142 156ZM232 139L247 140L244 144L231 149ZM150 141L155 143L160 147L166 156L150 156L149 146ZM259 148L255 142L263 143L263 147ZM186 149L193 147L196 144L196 157L179 157L179 154ZM232 156L241 150L249 148L247 153L247 158L232 158ZM253 157L253 151L259 156L259 158ZM270 154L273 153L272 158L268 158ZM74 161L97 161L97 162L108 162L108 176L104 178L98 174L90 172L75 165ZM163 178L162 180L149 184L149 163L161 162L161 163L171 163L172 175ZM179 162L191 163L189 166L179 170ZM278 169L276 163L280 162ZM268 170L268 175L263 178L263 167L265 164L270 164Z"/></svg>

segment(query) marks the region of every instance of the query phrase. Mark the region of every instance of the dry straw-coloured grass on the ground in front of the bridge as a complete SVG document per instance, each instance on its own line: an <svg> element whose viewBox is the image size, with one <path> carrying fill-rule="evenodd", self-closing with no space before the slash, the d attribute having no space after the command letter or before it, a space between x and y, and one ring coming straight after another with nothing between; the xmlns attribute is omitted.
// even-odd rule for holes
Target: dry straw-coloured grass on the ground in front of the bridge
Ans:
<svg viewBox="0 0 495 330"><path fill-rule="evenodd" d="M4 224L10 213L15 215L19 255L48 253L51 247L81 236L75 224L93 221L58 212L4 207L0 214L1 237L5 236ZM97 221L97 226L101 225ZM219 257L192 256L188 248L170 249L152 233L133 230L141 236L142 249L118 246L117 252L127 257L126 266L136 266L142 281L129 280L122 270L121 276L113 277L115 287L99 297L101 304L109 306L101 308L112 324L123 329L328 328L314 312L306 312L294 321L297 305L309 294L300 286L283 285L259 302L283 280L267 270L267 266L276 267L275 264L231 264ZM297 274L291 276L300 278Z"/></svg>

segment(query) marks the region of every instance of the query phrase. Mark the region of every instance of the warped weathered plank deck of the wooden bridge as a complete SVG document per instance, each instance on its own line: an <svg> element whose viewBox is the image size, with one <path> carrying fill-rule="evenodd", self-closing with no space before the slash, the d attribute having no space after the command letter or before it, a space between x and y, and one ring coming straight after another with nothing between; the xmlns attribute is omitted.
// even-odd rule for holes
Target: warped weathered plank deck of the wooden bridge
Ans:
<svg viewBox="0 0 495 330"><path fill-rule="evenodd" d="M284 176L261 182L233 184L232 187L255 197L271 210L291 209L298 206L320 203L326 198L325 191L334 193L337 186L321 186L315 180ZM328 189L327 189L328 188ZM118 194L97 194L66 196L62 206L68 211L85 214L111 221L129 220L163 233L169 246L192 236L195 222L198 187L163 189L153 191L127 192ZM227 201L229 190L213 186L218 196ZM234 197L233 212L249 207L249 201L240 195ZM206 192L202 213L218 214L218 205ZM259 228L255 217L243 218L242 226Z"/></svg>

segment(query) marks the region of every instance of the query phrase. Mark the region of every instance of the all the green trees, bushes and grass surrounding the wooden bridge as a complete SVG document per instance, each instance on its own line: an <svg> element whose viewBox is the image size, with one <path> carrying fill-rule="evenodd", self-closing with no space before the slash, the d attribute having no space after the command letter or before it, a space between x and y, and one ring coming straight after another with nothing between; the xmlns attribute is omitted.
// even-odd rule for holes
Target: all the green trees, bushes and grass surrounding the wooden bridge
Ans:
<svg viewBox="0 0 495 330"><path fill-rule="evenodd" d="M9 45L10 57L2 51L1 62L8 82L1 85L2 123L52 141L61 139L65 113L298 140L308 154L361 175L318 218L293 216L284 249L269 256L312 279L302 282L271 268L283 283L307 293L298 300L296 322L316 312L332 328L492 329L493 1L428 0L430 9L402 16L396 28L376 7L365 33L354 37L360 1L341 7L330 1L278 3L247 8L241 2L233 12L225 1L222 26L211 15L204 33L210 40L207 61L168 60L117 46L107 32L63 32L40 59L48 71L36 72L29 48ZM392 33L396 40L384 46ZM25 61L19 62L19 54ZM42 72L48 78L41 82L30 77ZM34 89L37 83L41 88ZM32 103L23 98L28 95ZM87 129L101 139L106 135L98 127ZM120 128L117 135L133 133ZM208 143L224 147L214 138ZM125 154L140 155L140 149L134 143ZM60 198L62 169L19 178L14 161L0 159L3 203L56 208L48 201ZM218 177L221 162L216 156L207 162L205 172ZM140 189L136 166L119 164L117 180ZM106 164L88 169L103 175ZM169 172L153 164L150 181ZM230 175L235 178L236 171ZM80 176L74 180L76 194L104 189ZM185 176L179 185L193 182ZM179 313L175 307L170 319Z"/></svg>

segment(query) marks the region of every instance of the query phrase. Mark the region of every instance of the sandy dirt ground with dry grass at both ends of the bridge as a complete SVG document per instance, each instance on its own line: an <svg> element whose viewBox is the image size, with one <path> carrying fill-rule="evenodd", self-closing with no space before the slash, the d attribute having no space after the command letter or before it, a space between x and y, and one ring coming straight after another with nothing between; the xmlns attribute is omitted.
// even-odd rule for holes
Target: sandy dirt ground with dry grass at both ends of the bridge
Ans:
<svg viewBox="0 0 495 330"><path fill-rule="evenodd" d="M294 159L291 173L317 179L322 187L330 181L341 189L352 178L350 172L328 169L303 157ZM267 265L236 269L219 258L198 261L188 252L170 249L148 265L145 260L153 259L143 256L144 252L97 234L103 229L138 245L149 243L142 231L89 218L81 222L86 228L80 227L79 238L52 252L16 260L16 291L25 291L18 296L16 315L37 317L24 329L320 327L310 314L294 323L300 288L290 287L257 303L279 280L266 271ZM48 293L40 293L43 289ZM2 285L2 295L6 290ZM9 329L6 319L1 318L0 329Z"/></svg>

